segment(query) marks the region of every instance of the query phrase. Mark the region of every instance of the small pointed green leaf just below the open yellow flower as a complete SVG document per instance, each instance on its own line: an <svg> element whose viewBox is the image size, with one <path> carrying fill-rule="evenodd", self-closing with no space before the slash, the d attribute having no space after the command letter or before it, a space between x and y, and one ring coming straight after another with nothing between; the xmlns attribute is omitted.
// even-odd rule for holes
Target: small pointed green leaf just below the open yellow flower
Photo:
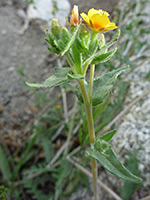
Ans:
<svg viewBox="0 0 150 200"><path fill-rule="evenodd" d="M92 64L98 64L98 63L104 63L107 62L113 55L114 53L117 51L117 48L115 48L112 51L109 51L107 53L104 54L100 54L99 56L96 56L93 61Z"/></svg>

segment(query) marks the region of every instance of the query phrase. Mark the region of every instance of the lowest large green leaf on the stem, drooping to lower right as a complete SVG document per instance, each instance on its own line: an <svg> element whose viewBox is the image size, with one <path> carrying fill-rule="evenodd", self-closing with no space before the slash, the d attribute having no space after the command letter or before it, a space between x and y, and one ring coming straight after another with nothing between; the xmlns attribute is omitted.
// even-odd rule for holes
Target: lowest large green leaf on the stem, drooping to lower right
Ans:
<svg viewBox="0 0 150 200"><path fill-rule="evenodd" d="M134 183L141 182L141 178L133 175L118 159L112 146L105 140L98 138L91 148L86 151L87 155L97 160L105 169L125 181Z"/></svg>

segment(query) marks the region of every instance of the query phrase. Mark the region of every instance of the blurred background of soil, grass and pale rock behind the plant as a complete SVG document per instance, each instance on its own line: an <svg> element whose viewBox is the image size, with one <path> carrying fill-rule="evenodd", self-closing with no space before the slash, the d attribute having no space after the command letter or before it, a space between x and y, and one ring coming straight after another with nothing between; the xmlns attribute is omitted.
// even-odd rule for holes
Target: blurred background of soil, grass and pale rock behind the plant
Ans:
<svg viewBox="0 0 150 200"><path fill-rule="evenodd" d="M141 184L126 183L100 165L103 200L150 199L150 1L147 0L0 0L0 199L91 200L92 181L65 157L90 170L84 107L67 84L32 89L54 67L68 66L47 50L45 30L57 18L66 26L73 5L79 11L104 9L121 29L118 51L96 66L96 75L130 65L111 98L94 109L96 134L117 129L112 145ZM109 41L115 31L105 34ZM76 83L74 83L76 86ZM111 192L108 191L111 189ZM112 194L112 191L117 195Z"/></svg>

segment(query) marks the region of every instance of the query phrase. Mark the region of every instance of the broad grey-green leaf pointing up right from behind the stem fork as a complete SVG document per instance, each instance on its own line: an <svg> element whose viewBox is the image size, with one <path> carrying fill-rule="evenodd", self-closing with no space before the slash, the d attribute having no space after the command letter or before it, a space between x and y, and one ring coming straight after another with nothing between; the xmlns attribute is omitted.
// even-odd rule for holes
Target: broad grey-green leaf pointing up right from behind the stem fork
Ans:
<svg viewBox="0 0 150 200"><path fill-rule="evenodd" d="M104 74L96 79L93 82L93 92L92 92L92 104L96 106L104 101L104 99L109 94L110 89L113 87L113 84L117 77L129 66L122 67L111 72Z"/></svg>

